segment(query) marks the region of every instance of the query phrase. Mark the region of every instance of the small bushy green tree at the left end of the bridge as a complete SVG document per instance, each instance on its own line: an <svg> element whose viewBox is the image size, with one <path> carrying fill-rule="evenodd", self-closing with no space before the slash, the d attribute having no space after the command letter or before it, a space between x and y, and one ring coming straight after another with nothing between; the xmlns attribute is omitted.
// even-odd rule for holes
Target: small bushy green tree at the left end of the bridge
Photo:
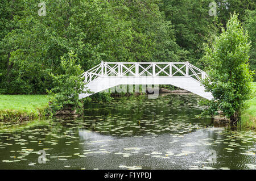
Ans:
<svg viewBox="0 0 256 181"><path fill-rule="evenodd" d="M83 73L81 66L76 65L76 55L69 53L69 58L61 57L60 74L50 74L53 79L54 88L47 91L51 104L49 106L53 114L63 108L73 108L77 113L82 114L83 103L79 99L80 93L85 93L85 83L82 81Z"/></svg>

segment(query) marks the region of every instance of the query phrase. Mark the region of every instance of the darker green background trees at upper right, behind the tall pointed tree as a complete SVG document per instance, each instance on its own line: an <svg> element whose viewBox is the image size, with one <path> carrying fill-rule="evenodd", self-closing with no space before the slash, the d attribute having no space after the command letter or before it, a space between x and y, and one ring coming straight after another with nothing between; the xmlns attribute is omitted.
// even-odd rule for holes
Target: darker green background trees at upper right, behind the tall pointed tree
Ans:
<svg viewBox="0 0 256 181"><path fill-rule="evenodd" d="M216 2L217 16L209 15L209 3ZM218 24L226 27L229 14L239 12L240 20L244 20L246 10L255 10L255 2L251 0L162 0L160 10L174 26L177 44L187 50L187 60L203 68L204 62L199 61L204 55L204 46L212 36L218 36Z"/></svg>

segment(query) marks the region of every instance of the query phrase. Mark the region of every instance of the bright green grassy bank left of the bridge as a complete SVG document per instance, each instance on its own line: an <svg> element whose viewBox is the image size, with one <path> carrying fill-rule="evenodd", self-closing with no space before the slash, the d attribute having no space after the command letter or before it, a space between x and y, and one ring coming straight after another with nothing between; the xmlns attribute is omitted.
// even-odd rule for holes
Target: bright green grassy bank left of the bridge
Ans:
<svg viewBox="0 0 256 181"><path fill-rule="evenodd" d="M36 119L47 106L46 95L0 95L0 121Z"/></svg>

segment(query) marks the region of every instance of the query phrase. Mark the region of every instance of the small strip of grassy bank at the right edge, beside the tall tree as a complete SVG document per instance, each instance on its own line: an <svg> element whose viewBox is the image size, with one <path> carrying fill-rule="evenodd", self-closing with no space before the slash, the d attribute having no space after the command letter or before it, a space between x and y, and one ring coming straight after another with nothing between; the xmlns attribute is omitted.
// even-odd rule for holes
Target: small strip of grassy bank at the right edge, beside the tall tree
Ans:
<svg viewBox="0 0 256 181"><path fill-rule="evenodd" d="M256 82L253 82L253 99L248 101L249 108L242 111L241 127L256 128Z"/></svg>

